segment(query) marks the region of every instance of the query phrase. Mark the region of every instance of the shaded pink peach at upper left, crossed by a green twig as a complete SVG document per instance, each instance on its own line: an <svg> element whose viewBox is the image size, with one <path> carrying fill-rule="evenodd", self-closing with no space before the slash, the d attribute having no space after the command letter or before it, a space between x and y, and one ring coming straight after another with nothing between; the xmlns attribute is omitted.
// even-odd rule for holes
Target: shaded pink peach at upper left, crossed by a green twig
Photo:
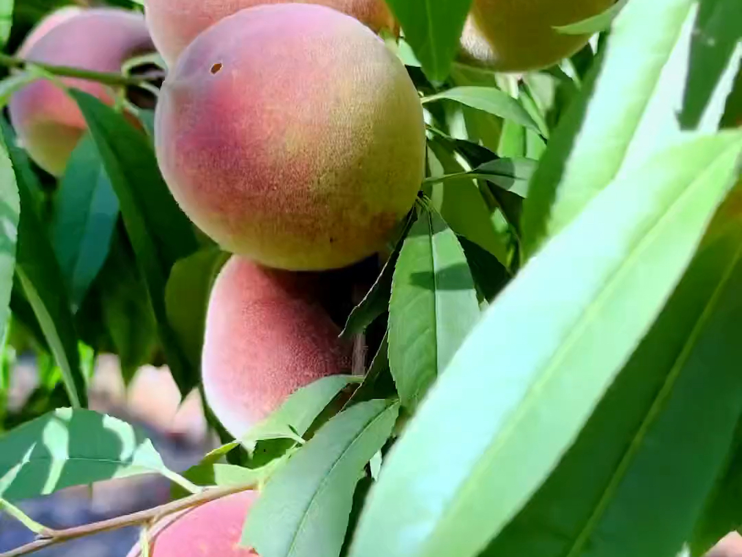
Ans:
<svg viewBox="0 0 742 557"><path fill-rule="evenodd" d="M118 72L131 56L151 52L154 45L144 18L114 8L66 10L36 28L19 53L25 59L91 71ZM63 78L108 104L114 102L105 85ZM62 175L67 160L85 131L76 103L52 82L41 80L10 98L10 121L30 157L53 175Z"/></svg>

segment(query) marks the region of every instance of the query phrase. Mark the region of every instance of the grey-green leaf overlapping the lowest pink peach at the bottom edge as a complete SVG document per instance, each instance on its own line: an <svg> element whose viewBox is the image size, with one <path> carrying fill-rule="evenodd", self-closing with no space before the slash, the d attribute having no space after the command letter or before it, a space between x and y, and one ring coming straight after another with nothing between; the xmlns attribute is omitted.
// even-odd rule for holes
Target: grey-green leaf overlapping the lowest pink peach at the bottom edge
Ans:
<svg viewBox="0 0 742 557"><path fill-rule="evenodd" d="M337 557L355 485L392 432L398 404L372 400L338 414L268 481L242 543L261 557Z"/></svg>

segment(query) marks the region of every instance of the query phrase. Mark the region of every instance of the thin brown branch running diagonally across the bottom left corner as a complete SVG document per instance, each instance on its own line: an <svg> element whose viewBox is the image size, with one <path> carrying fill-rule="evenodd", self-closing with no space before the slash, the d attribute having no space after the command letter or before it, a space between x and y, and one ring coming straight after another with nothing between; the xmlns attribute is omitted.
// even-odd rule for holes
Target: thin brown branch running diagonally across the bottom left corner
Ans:
<svg viewBox="0 0 742 557"><path fill-rule="evenodd" d="M247 491L248 489L255 489L255 484L249 483L241 486L215 487L197 493L196 495L179 499L178 501L172 501L171 503L155 506L152 509L132 512L131 515L109 518L105 521L93 522L93 524L85 524L84 526L67 528L65 530L46 529L35 541L17 547L14 550L7 551L6 553L0 553L0 557L20 557L30 555L31 553L35 553L36 551L45 549L46 547L64 544L67 541L72 541L77 538L85 538L88 535L99 534L100 532L110 532L111 530L119 530L120 528L157 521L160 520L160 518L173 514L174 512L191 509L209 503L210 501L226 497L227 495Z"/></svg>

